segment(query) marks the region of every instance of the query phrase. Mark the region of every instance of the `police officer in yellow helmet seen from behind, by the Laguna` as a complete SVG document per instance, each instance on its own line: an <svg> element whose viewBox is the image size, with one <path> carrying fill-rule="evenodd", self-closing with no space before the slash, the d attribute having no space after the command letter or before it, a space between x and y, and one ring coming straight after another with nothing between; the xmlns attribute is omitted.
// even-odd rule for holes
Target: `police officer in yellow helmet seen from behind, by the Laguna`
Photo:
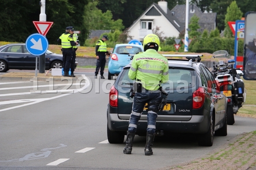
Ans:
<svg viewBox="0 0 256 170"><path fill-rule="evenodd" d="M147 141L145 146L145 155L152 155L152 144L156 132L156 118L158 106L161 102L161 83L169 80L168 60L159 54L160 45L159 37L155 34L148 34L143 39L144 52L134 55L132 65L128 76L135 80L135 95L132 104L132 113L130 116L126 145L123 150L124 154L131 154L132 143L137 124L143 112L143 108L148 103L147 113Z"/></svg>

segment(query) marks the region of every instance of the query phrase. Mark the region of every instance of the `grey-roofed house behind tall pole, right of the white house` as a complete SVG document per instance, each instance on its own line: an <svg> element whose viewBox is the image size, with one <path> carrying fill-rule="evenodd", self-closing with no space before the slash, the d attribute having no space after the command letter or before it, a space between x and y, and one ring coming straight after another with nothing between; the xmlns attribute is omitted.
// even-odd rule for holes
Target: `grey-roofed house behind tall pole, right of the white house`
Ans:
<svg viewBox="0 0 256 170"><path fill-rule="evenodd" d="M180 22L185 24L186 5L176 5L171 10L171 13L176 16ZM198 24L200 28L198 31L203 32L204 29L208 29L210 32L216 28L217 13L202 13L200 8L196 5L189 5L189 21L193 15L197 15L199 18Z"/></svg>

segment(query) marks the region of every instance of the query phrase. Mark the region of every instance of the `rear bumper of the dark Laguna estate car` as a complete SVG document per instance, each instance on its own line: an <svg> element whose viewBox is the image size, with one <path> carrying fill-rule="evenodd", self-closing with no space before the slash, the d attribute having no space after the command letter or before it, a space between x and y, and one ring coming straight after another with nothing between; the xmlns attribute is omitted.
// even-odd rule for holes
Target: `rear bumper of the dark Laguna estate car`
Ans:
<svg viewBox="0 0 256 170"><path fill-rule="evenodd" d="M203 115L193 115L189 121L156 121L156 131L164 133L206 133L210 118ZM111 131L126 132L129 120L119 119L117 113L108 114L108 127ZM140 120L137 133L145 133L147 120Z"/></svg>

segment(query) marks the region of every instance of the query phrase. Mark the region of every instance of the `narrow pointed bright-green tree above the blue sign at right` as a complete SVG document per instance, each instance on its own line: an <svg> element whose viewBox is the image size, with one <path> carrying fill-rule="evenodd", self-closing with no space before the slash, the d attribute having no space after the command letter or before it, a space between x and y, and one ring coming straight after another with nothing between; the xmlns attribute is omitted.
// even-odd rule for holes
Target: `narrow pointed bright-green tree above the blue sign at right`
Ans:
<svg viewBox="0 0 256 170"><path fill-rule="evenodd" d="M227 8L227 13L225 15L225 37L233 37L233 33L228 25L228 21L240 20L243 16L240 8L237 6L236 1L233 1Z"/></svg>

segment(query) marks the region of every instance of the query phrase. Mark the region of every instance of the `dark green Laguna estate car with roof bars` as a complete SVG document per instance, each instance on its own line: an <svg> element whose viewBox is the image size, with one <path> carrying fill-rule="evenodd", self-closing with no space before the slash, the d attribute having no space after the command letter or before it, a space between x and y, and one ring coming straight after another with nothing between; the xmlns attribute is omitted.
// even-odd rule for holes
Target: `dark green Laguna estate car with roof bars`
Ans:
<svg viewBox="0 0 256 170"><path fill-rule="evenodd" d="M186 60L168 59L169 82L162 86L169 95L164 110L158 113L156 135L193 133L198 135L200 146L212 146L214 133L227 135L227 98L220 93L220 87L211 72L200 62L200 57L186 56ZM132 111L130 88L134 83L128 77L129 69L130 65L121 71L109 93L109 143L123 143L128 129ZM144 109L147 110L147 104ZM145 111L137 126L137 135L146 135Z"/></svg>

